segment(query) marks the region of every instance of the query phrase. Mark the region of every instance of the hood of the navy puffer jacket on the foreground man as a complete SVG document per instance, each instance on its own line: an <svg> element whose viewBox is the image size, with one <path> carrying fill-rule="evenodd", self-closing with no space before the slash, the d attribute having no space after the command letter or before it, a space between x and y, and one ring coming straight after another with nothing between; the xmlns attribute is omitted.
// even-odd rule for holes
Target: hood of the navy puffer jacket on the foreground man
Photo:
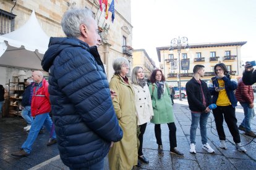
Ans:
<svg viewBox="0 0 256 170"><path fill-rule="evenodd" d="M53 65L54 59L61 53L63 49L67 47L82 47L89 51L89 46L87 43L80 41L77 38L53 38L49 40L48 50L43 56L41 66L43 70L49 71L51 65Z"/></svg>

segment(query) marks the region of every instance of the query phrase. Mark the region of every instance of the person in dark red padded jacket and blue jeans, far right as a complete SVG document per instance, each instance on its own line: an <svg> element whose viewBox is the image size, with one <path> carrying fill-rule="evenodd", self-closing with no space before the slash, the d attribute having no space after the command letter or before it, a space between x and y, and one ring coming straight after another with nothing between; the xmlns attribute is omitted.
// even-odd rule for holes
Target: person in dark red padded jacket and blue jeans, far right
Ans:
<svg viewBox="0 0 256 170"><path fill-rule="evenodd" d="M250 121L254 117L254 91L252 86L244 84L242 79L239 79L236 89L236 99L244 108L244 120L238 127L239 130L244 131L245 135L256 137L256 134L250 129Z"/></svg>

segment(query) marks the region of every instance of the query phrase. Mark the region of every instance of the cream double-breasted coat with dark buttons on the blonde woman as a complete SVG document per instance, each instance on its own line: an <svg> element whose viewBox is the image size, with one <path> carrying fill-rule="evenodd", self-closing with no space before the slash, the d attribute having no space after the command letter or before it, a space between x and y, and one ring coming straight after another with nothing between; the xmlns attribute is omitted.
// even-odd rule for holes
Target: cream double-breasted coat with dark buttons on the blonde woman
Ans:
<svg viewBox="0 0 256 170"><path fill-rule="evenodd" d="M142 88L137 84L132 84L135 92L136 113L138 125L150 122L150 117L154 116L150 91L147 84Z"/></svg>

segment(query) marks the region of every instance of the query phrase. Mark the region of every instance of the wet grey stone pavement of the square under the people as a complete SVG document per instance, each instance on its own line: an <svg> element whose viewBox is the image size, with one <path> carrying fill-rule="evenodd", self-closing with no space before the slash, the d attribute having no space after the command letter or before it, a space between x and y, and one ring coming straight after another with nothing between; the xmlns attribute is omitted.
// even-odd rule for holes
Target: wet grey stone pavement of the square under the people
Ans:
<svg viewBox="0 0 256 170"><path fill-rule="evenodd" d="M143 140L144 155L150 160L149 164L142 164L140 169L256 169L256 139L249 145L246 145L246 153L239 152L233 142L226 123L224 130L227 139L227 150L223 150L219 145L219 140L213 115L210 115L207 125L208 143L211 145L214 154L207 153L202 149L200 131L197 130L196 137L196 154L189 153L189 131L191 123L190 110L186 99L183 101L174 100L174 114L177 126L177 147L184 153L184 158L169 154L169 137L167 124L161 125L164 155L160 156L157 152L154 124L149 123L145 131ZM244 118L241 106L236 107L236 117L238 125ZM27 137L27 133L23 131L25 122L17 118L4 118L0 120L0 169L69 169L62 164L57 145L46 147L49 134L45 133L38 136L30 156L25 158L15 158L11 153L18 147ZM251 124L252 130L256 132L255 118ZM241 143L247 144L252 137L245 136L244 132L239 131L241 135ZM105 158L105 169L108 169L108 160Z"/></svg>

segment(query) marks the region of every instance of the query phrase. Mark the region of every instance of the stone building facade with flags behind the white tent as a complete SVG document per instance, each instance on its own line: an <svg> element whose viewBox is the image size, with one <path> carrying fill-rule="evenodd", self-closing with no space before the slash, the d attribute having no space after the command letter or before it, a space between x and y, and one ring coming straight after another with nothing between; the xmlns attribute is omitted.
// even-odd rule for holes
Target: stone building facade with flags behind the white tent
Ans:
<svg viewBox="0 0 256 170"><path fill-rule="evenodd" d="M109 1L109 5L110 3L111 1ZM0 33L5 34L18 29L28 20L32 10L35 10L41 28L49 37L65 36L60 25L64 12L70 8L87 7L93 11L98 21L98 27L101 31L100 36L103 40L98 51L101 60L105 64L108 79L110 79L114 73L112 62L116 57L126 57L131 66L133 63L130 0L114 1L114 3L115 18L112 23L111 12L109 12L108 20L105 20L105 12L100 11L98 0L0 0L1 15L6 13L15 16L13 21L8 21L8 18L5 18L8 25L7 22L6 25L0 22ZM1 70L4 69L4 67L1 67ZM41 68L38 68L38 70L41 70Z"/></svg>

